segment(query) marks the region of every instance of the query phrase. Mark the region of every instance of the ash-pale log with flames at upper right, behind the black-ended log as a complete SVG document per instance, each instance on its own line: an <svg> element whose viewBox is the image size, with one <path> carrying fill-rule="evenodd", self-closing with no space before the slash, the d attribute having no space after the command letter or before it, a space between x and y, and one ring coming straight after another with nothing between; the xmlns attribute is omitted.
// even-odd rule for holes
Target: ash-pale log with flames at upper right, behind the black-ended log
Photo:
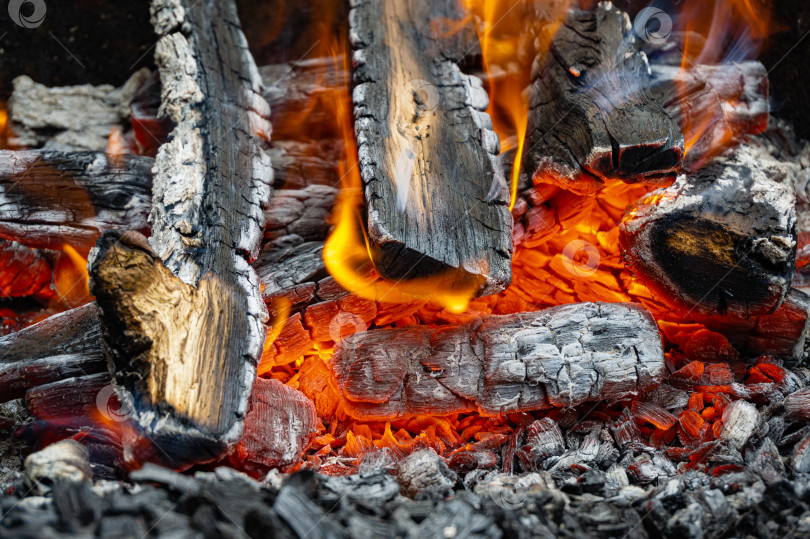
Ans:
<svg viewBox="0 0 810 539"><path fill-rule="evenodd" d="M768 127L768 72L759 62L651 69L653 98L683 131L686 168L700 168L743 136Z"/></svg>

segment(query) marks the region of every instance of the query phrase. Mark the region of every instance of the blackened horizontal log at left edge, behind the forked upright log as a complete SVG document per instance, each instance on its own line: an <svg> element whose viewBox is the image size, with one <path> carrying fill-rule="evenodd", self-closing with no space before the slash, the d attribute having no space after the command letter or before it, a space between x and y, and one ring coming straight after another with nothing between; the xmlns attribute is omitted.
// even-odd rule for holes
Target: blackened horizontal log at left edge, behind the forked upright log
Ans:
<svg viewBox="0 0 810 539"><path fill-rule="evenodd" d="M148 234L153 164L133 155L0 151L0 236L86 254L107 230Z"/></svg>

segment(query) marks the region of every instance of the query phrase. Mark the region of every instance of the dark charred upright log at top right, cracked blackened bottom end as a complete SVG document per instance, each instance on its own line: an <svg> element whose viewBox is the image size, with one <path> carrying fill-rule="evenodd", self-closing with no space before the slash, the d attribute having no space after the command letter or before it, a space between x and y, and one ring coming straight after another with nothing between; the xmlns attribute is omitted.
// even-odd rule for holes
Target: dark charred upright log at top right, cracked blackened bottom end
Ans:
<svg viewBox="0 0 810 539"><path fill-rule="evenodd" d="M626 13L609 2L572 10L532 66L524 167L534 182L593 194L607 179L673 179L683 135L652 99L648 69Z"/></svg>

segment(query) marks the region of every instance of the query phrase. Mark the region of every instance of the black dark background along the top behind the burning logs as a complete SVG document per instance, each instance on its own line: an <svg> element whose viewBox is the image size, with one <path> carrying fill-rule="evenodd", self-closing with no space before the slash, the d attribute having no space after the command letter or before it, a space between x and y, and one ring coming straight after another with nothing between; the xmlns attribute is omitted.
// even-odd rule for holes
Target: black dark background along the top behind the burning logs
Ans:
<svg viewBox="0 0 810 539"><path fill-rule="evenodd" d="M148 1L45 2L43 24L26 29L9 18L8 0L0 1L0 99L8 97L11 81L21 74L49 86L120 85L135 70L154 68ZM631 16L648 5L638 0L615 3ZM670 9L677 10L677 3L657 5L675 12ZM345 34L342 0L237 0L237 4L258 65L322 54L325 44L319 43L320 36ZM334 15L332 28L311 22L322 20L327 12ZM770 70L773 112L791 120L796 132L810 139L810 1L774 0L774 19L780 30L760 55Z"/></svg>

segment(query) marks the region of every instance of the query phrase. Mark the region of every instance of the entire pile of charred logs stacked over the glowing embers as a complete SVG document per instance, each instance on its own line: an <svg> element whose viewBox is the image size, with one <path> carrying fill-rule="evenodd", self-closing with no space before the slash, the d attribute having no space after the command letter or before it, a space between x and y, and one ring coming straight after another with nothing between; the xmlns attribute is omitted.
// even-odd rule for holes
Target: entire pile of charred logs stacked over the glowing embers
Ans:
<svg viewBox="0 0 810 539"><path fill-rule="evenodd" d="M793 393L788 421L807 421L805 381L781 363L804 358L810 323L793 280L803 165L764 142L761 64L681 68L642 52L610 3L572 10L532 62L513 221L504 134L487 113L487 87L506 75L470 67L475 21L453 0L351 5L350 68L257 69L234 2L155 0L156 73L119 88L15 83L0 289L52 301L68 245L89 257L93 296L0 338L0 401L24 399L34 418L21 430L81 430L92 462L115 454L111 469L217 461L254 475L348 473L387 458L379 447L401 458L427 444L446 458L399 465L416 495L412 462L442 492L455 473L516 466L580 491L572 470L602 470L614 492L628 475L674 475L671 460L748 460L763 425L784 431L777 394ZM309 101L349 95L351 141ZM60 123L70 107L94 121ZM364 269L393 285L431 278L418 300L348 290L324 264L338 165L355 148ZM574 214L635 183L647 192L599 230L617 260L578 277L621 272L615 288L643 288L645 305L616 294L541 310L532 296L515 312L512 257L549 255L533 237L559 220L546 210ZM431 304L459 289L475 296L466 313ZM443 427L402 441L420 421Z"/></svg>

